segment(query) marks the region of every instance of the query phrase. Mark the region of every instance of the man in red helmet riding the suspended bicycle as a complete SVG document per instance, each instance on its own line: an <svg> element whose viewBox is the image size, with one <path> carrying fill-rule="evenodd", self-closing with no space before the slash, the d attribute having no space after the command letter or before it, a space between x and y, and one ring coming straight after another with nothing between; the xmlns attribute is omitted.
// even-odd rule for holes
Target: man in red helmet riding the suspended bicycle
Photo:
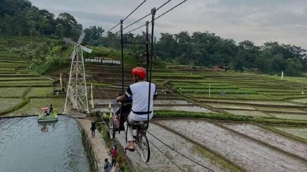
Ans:
<svg viewBox="0 0 307 172"><path fill-rule="evenodd" d="M146 82L146 70L142 67L135 67L132 72L134 84L131 84L127 91L121 95L116 97L118 102L124 102L128 98L132 98L132 108L127 116L127 122L125 123L125 127L127 130L127 141L128 145L126 149L128 151L134 151L134 138L133 138L133 125L137 121L147 121L148 114L148 88L149 82ZM149 119L153 116L153 100L157 97L156 85L151 83L150 89L150 106L149 106ZM128 128L128 129L127 129Z"/></svg>

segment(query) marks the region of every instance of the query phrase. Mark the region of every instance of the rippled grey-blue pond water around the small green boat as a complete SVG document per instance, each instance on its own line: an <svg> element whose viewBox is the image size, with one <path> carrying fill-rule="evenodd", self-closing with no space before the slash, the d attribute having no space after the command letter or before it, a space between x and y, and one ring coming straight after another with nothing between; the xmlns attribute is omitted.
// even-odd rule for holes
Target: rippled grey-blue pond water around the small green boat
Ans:
<svg viewBox="0 0 307 172"><path fill-rule="evenodd" d="M0 118L0 171L90 172L75 119Z"/></svg>

